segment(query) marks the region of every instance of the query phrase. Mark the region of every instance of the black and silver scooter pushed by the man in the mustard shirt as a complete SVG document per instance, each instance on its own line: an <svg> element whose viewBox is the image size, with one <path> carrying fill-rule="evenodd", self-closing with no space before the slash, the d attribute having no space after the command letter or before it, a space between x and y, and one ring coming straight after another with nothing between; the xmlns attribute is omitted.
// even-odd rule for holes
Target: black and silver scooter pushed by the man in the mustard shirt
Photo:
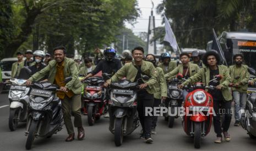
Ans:
<svg viewBox="0 0 256 151"><path fill-rule="evenodd" d="M67 83L71 79L68 77L64 82ZM35 137L51 137L61 131L63 125L61 100L56 95L59 86L37 82L31 88L25 131L25 135L28 136L26 149L31 149Z"/></svg>

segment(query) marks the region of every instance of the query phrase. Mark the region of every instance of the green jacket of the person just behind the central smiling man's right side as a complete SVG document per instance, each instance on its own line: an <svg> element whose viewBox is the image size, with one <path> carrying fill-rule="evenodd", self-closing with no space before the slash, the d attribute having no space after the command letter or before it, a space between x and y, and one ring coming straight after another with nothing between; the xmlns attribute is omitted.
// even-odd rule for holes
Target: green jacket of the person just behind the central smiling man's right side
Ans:
<svg viewBox="0 0 256 151"><path fill-rule="evenodd" d="M162 96L167 97L167 84L162 68L156 67L156 71L157 82L155 83L156 93L154 93L154 98L161 99Z"/></svg>

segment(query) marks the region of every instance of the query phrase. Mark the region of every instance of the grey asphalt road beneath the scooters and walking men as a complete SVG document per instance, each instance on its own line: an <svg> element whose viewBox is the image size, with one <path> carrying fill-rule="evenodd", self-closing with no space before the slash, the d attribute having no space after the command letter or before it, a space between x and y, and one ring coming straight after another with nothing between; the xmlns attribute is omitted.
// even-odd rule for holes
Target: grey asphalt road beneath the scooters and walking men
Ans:
<svg viewBox="0 0 256 151"><path fill-rule="evenodd" d="M16 131L9 131L9 101L8 94L0 94L0 150L25 150L26 136L24 135L25 123L21 123ZM160 117L156 128L157 134L152 135L153 144L146 144L139 138L141 130L138 127L131 135L124 137L122 146L116 147L114 137L108 131L108 119L101 118L94 126L89 126L86 122L86 116L83 115L83 125L85 127L85 139L65 142L67 137L66 128L51 138L36 138L31 150L197 150L193 146L193 138L186 135L181 125L181 119L175 121L175 126L170 129L167 122ZM201 141L199 150L255 150L256 140L252 140L242 127L233 126L232 119L230 142L215 144L215 133L213 126L211 132Z"/></svg>

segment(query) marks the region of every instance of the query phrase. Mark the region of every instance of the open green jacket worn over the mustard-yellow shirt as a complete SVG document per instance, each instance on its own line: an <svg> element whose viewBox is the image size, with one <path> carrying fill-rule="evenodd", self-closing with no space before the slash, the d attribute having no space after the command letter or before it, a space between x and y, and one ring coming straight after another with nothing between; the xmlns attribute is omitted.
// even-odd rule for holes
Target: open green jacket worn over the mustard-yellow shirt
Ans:
<svg viewBox="0 0 256 151"><path fill-rule="evenodd" d="M43 68L41 71L35 73L32 75L29 80L37 81L45 77L45 75L48 75L48 82L54 83L55 82L55 75L57 71L57 62L55 60L52 60L49 62L49 64ZM78 69L77 66L75 66L75 62L72 59L69 59L67 57L64 58L64 77L72 77L72 80L66 84L66 87L69 90L72 90L74 94L81 94L81 87L82 84L80 80L78 79Z"/></svg>

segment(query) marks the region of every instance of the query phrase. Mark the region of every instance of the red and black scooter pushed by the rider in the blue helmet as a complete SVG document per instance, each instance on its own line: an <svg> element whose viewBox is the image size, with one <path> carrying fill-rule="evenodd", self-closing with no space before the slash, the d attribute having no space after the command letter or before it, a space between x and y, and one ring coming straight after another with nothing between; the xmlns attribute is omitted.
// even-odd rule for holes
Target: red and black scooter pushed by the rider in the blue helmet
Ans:
<svg viewBox="0 0 256 151"><path fill-rule="evenodd" d="M106 89L103 88L105 80L101 77L91 77L84 80L88 84L84 89L84 114L87 114L88 124L94 125L95 120L99 120L106 109Z"/></svg>

